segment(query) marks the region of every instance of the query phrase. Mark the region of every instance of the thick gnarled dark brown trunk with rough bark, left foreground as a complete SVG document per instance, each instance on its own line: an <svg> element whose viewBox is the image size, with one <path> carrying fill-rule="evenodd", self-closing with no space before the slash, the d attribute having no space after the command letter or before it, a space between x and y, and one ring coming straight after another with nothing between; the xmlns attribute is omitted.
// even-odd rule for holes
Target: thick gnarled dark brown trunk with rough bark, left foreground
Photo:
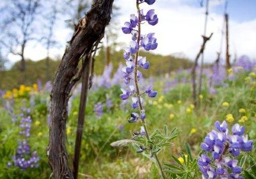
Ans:
<svg viewBox="0 0 256 179"><path fill-rule="evenodd" d="M51 92L51 124L47 155L54 178L74 178L68 166L66 143L67 104L70 90L79 80L81 56L92 52L111 19L114 0L94 0L91 10L79 20L56 72ZM78 77L76 77L78 75Z"/></svg>

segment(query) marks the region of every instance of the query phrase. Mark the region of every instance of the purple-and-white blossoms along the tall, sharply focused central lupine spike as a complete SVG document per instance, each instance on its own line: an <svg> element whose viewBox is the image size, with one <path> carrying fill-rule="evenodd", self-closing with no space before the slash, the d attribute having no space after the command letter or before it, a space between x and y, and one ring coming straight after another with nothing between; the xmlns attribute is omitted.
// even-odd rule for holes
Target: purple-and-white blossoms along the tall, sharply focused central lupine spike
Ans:
<svg viewBox="0 0 256 179"><path fill-rule="evenodd" d="M137 1L137 7L140 3L145 2L147 4L154 4L155 1L156 0L139 0ZM131 116L128 120L129 123L136 123L138 120L145 120L146 118L145 109L143 107L143 98L141 96L145 93L148 95L148 97L152 98L156 97L157 95L157 92L153 91L152 86L148 87L147 89L143 88L140 90L141 86L139 86L139 83L141 84L142 73L138 70L138 67L141 67L144 70L147 70L150 67L149 62L145 57L138 56L140 47L143 47L146 51L154 50L157 48L157 39L154 38L154 33L148 33L148 35L140 36L138 36L138 34L141 34L140 26L142 21L147 20L148 24L154 26L157 24L158 18L154 10L149 10L146 15L143 14L143 10L140 10L140 8L138 8L138 10L138 16L132 14L130 16L130 22L125 22L125 27L122 27L122 31L125 34L132 35L132 41L130 42L129 47L125 48L124 50L126 66L122 68L122 72L124 72L124 83L129 85L129 89L122 88L122 94L120 95L120 98L122 100L127 100L131 96L132 109L137 109L140 113L131 113ZM136 58L134 58L133 55ZM131 85L132 83L134 86ZM141 93L141 91L145 92ZM142 136L145 135L145 128L141 127L140 134ZM144 150L146 150L145 147L140 146L138 153L141 153Z"/></svg>

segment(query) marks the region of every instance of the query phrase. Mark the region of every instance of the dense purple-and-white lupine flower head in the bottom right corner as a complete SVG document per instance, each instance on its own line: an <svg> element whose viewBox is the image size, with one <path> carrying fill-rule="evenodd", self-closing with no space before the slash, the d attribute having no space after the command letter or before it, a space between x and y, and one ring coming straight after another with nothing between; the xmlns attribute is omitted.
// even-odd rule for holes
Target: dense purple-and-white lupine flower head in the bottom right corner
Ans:
<svg viewBox="0 0 256 179"><path fill-rule="evenodd" d="M237 166L238 160L228 157L228 153L237 157L241 150L249 152L253 148L253 141L244 136L244 127L239 124L232 127L232 134L228 134L225 121L216 121L215 127L216 130L207 134L204 143L201 143L202 150L206 152L198 158L203 178L243 178L240 176L242 169ZM211 153L212 159L207 153Z"/></svg>

